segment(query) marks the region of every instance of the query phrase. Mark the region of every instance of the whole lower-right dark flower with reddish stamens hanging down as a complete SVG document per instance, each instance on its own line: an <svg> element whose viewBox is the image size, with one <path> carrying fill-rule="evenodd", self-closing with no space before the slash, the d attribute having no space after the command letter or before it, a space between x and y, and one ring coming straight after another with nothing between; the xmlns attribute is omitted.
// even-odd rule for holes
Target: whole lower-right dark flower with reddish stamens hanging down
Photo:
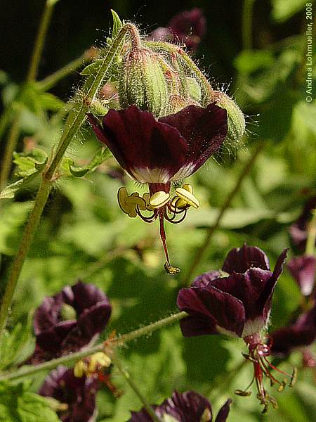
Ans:
<svg viewBox="0 0 316 422"><path fill-rule="evenodd" d="M249 354L244 355L254 364L254 380L264 411L275 399L265 391L263 378L279 383L269 370L270 347L265 344L263 331L267 328L272 295L287 255L279 256L274 271L265 253L256 247L244 245L230 250L218 277L210 271L197 277L190 288L178 293L177 305L189 316L180 321L185 337L225 333L244 339ZM253 380L253 381L254 381ZM292 383L292 379L290 385ZM284 387L283 383L279 383ZM248 392L239 392L246 395Z"/></svg>

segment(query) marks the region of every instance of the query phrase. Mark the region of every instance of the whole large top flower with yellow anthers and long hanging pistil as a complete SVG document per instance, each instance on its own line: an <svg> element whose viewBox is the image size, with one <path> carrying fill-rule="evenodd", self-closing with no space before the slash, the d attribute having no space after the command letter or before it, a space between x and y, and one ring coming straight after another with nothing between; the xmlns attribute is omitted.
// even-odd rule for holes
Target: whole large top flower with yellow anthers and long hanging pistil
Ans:
<svg viewBox="0 0 316 422"><path fill-rule="evenodd" d="M190 185L176 189L171 198L171 183L196 172L225 141L227 134L226 110L209 104L206 108L190 105L178 113L155 118L136 106L110 110L102 125L96 117L88 120L98 139L110 148L119 165L132 179L148 184L149 193L143 198L138 193L127 195L121 188L118 199L121 209L129 215L138 215L145 222L159 217L160 234L166 253L166 269L171 267L166 250L164 219L180 222L187 208L199 206ZM150 211L150 215L142 212ZM176 217L180 219L176 220Z"/></svg>

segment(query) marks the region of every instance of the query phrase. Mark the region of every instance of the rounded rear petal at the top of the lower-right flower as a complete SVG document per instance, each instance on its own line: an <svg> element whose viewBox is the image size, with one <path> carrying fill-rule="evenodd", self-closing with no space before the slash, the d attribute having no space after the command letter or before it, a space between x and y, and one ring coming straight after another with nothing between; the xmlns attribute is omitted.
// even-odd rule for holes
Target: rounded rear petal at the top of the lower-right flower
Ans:
<svg viewBox="0 0 316 422"><path fill-rule="evenodd" d="M250 268L270 270L270 263L265 252L256 246L243 245L228 252L223 264L223 271L231 274L233 271L245 273Z"/></svg>

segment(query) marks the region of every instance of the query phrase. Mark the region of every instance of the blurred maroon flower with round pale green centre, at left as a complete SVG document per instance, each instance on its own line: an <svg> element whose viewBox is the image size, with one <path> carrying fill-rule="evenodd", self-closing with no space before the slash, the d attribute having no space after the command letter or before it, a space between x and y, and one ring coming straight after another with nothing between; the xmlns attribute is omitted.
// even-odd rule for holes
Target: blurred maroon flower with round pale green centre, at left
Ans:
<svg viewBox="0 0 316 422"><path fill-rule="evenodd" d="M34 315L36 347L28 363L37 364L81 349L96 340L110 314L107 296L81 281L46 297Z"/></svg>

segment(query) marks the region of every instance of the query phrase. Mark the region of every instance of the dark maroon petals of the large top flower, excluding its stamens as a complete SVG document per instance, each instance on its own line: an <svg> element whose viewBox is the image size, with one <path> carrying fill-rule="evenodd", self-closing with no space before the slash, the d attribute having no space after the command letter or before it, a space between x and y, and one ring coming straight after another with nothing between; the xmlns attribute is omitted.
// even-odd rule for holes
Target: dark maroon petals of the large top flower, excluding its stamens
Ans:
<svg viewBox="0 0 316 422"><path fill-rule="evenodd" d="M88 115L93 131L119 165L136 181L156 185L196 172L225 141L226 111L215 104L187 106L178 113L155 119L152 113L129 106L110 110L103 126Z"/></svg>

